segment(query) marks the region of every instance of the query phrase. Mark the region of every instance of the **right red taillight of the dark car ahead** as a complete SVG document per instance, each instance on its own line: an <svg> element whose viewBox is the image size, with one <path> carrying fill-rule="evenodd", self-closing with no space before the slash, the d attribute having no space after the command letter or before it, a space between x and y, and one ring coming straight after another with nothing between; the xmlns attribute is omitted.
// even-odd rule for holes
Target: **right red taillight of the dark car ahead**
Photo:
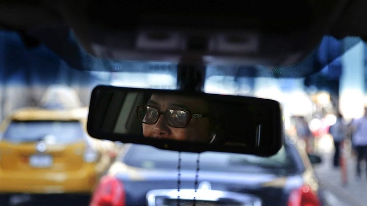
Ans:
<svg viewBox="0 0 367 206"><path fill-rule="evenodd" d="M303 185L291 192L288 206L320 206L318 194L308 185Z"/></svg>

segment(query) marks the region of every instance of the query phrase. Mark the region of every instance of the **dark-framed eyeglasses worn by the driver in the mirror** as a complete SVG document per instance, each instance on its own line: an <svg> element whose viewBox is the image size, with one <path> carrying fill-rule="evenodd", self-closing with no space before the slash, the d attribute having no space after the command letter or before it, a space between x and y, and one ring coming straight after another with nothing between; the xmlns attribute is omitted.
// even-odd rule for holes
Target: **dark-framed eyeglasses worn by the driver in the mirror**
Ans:
<svg viewBox="0 0 367 206"><path fill-rule="evenodd" d="M148 105L137 106L137 115L140 122L145 124L154 124L158 122L161 114L165 116L167 124L171 127L182 128L186 127L191 119L206 117L206 114L193 114L190 111L183 109L167 109L161 112L158 108Z"/></svg>

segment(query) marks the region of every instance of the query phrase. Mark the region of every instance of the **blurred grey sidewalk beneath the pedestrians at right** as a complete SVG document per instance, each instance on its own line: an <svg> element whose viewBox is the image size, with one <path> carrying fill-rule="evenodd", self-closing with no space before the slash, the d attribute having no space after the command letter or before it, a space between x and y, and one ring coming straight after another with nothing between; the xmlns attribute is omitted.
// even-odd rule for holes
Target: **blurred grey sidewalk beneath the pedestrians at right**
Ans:
<svg viewBox="0 0 367 206"><path fill-rule="evenodd" d="M319 154L322 163L314 165L314 169L319 176L320 184L331 192L338 201L333 201L332 206L359 206L367 205L367 173L365 164L362 163L362 178L356 179L356 158L351 155L350 150L346 150L347 184L342 182L342 173L339 168L332 165L332 150L321 150ZM340 202L343 201L343 202Z"/></svg>

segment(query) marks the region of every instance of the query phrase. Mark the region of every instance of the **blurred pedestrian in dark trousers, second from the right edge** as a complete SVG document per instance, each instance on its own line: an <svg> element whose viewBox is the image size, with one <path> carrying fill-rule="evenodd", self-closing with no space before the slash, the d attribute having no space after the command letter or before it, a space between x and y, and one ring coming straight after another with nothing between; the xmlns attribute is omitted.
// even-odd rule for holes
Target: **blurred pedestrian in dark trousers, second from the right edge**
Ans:
<svg viewBox="0 0 367 206"><path fill-rule="evenodd" d="M340 149L342 148L348 133L347 124L345 123L344 117L341 113L337 114L336 122L330 126L329 133L331 134L334 141L333 165L334 167L339 167Z"/></svg>

